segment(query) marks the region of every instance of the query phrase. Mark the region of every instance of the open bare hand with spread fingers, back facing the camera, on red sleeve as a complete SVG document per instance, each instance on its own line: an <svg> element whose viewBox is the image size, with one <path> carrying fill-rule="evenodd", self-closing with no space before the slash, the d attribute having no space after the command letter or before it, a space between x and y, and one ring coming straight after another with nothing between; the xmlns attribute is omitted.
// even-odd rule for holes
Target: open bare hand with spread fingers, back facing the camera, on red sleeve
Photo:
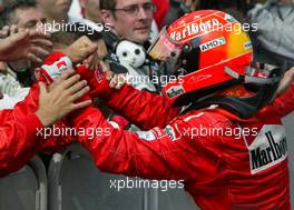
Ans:
<svg viewBox="0 0 294 210"><path fill-rule="evenodd" d="M91 103L90 100L75 103L89 91L89 87L85 80L79 81L80 76L74 73L74 71L65 71L60 79L51 84L50 91L45 83L39 83L39 109L36 116L45 127Z"/></svg>

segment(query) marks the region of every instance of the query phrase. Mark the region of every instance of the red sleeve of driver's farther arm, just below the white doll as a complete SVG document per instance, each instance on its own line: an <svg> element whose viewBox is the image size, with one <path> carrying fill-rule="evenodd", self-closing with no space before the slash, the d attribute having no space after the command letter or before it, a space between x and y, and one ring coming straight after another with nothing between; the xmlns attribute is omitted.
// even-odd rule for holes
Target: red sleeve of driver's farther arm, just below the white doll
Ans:
<svg viewBox="0 0 294 210"><path fill-rule="evenodd" d="M166 98L139 91L125 84L120 90L111 89L104 73L78 68L78 73L88 81L91 97L99 97L116 113L124 116L140 129L165 127L179 114L180 108L173 107Z"/></svg>

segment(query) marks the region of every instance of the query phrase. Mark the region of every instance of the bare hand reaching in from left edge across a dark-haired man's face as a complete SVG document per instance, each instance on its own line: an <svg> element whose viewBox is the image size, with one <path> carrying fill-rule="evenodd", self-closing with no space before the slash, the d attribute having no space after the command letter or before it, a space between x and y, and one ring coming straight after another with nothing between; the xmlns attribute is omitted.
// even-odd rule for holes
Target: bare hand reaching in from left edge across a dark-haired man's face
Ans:
<svg viewBox="0 0 294 210"><path fill-rule="evenodd" d="M50 52L52 47L48 36L36 30L23 30L11 27L4 28L1 34L10 34L0 40L0 60L16 61L28 59L33 62L41 62Z"/></svg>

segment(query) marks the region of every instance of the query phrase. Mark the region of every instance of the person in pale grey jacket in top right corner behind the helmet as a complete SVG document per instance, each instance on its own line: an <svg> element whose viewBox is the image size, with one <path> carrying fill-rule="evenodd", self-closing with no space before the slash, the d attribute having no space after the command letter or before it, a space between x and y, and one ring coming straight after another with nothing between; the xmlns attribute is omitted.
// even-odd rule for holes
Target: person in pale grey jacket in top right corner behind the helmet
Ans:
<svg viewBox="0 0 294 210"><path fill-rule="evenodd" d="M256 60L286 68L294 63L293 23L294 4L292 0L268 0L256 4L248 12L251 23L257 23L253 33Z"/></svg>

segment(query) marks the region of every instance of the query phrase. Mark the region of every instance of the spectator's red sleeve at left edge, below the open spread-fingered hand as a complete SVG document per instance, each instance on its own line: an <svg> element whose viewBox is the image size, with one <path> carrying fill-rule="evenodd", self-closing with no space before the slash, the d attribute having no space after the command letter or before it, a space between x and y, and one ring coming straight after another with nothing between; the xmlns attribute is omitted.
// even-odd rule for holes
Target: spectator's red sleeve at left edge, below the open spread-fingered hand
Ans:
<svg viewBox="0 0 294 210"><path fill-rule="evenodd" d="M2 112L0 112L1 121ZM33 113L19 120L4 120L0 128L0 177L19 170L35 154L37 129L42 124Z"/></svg>

